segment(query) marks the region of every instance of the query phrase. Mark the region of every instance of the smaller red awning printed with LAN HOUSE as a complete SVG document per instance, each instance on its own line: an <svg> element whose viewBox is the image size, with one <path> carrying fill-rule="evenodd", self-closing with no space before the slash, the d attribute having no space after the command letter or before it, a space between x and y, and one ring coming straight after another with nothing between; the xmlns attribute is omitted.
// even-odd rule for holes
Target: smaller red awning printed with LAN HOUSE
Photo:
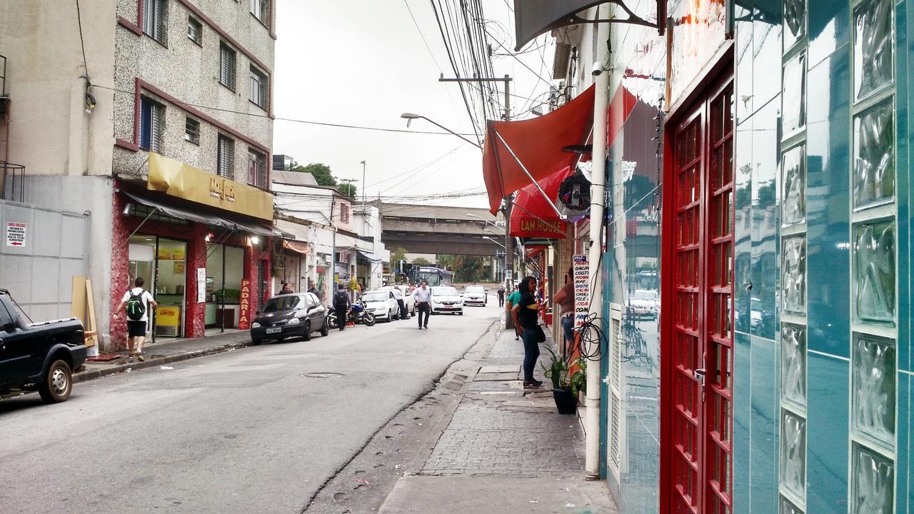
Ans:
<svg viewBox="0 0 914 514"><path fill-rule="evenodd" d="M558 173L540 180L539 187L542 187L549 200L554 202L558 198L558 187L561 186L562 180L573 173L570 167L565 167ZM568 229L567 223L558 219L556 211L533 184L517 191L514 209L511 209L510 227L509 235L546 239L564 239Z"/></svg>

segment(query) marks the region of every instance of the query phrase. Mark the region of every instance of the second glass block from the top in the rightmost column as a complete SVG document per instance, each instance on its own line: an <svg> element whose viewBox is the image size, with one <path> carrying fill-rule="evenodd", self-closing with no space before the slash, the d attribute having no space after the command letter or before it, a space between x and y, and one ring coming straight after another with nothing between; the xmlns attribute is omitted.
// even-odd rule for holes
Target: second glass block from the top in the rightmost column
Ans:
<svg viewBox="0 0 914 514"><path fill-rule="evenodd" d="M895 196L895 105L880 102L854 117L854 207Z"/></svg>

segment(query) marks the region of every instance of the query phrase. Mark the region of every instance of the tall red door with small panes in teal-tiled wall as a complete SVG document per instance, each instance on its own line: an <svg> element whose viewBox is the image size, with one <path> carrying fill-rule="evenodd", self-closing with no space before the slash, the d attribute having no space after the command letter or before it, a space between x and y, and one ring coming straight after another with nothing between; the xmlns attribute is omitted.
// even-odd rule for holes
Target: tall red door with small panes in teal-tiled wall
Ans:
<svg viewBox="0 0 914 514"><path fill-rule="evenodd" d="M672 169L672 369L664 502L684 514L731 512L733 361L732 80L675 126Z"/></svg>

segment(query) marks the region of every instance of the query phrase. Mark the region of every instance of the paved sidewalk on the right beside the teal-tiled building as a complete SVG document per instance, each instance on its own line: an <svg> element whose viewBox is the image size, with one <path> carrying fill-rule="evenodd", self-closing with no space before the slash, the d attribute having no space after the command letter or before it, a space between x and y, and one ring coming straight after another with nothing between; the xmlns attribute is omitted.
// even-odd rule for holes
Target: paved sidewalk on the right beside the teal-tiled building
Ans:
<svg viewBox="0 0 914 514"><path fill-rule="evenodd" d="M605 482L584 479L578 418L556 412L542 368L543 388L524 391L523 356L513 331L498 333L420 473L399 478L379 512L618 512Z"/></svg>

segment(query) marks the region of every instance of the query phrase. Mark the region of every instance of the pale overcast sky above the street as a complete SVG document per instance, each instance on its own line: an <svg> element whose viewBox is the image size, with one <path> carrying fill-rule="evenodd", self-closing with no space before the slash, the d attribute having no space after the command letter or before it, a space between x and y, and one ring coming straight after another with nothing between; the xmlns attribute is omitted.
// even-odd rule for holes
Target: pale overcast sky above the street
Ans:
<svg viewBox="0 0 914 514"><path fill-rule="evenodd" d="M368 197L428 195L435 203L486 207L484 195L435 200L442 193L484 189L481 152L453 135L280 120L406 129L400 114L415 112L455 132L472 134L458 85L438 81L441 72L452 77L453 71L430 1L406 1L430 51L404 0L278 0L273 153L292 155L302 165L324 163L336 177L355 178L359 196L363 187L359 162L365 160ZM483 0L484 17L493 20L487 27L505 48L514 48L514 14L509 4L513 0ZM545 40L540 37L526 49ZM495 51L505 53L491 43ZM518 59L548 80L553 49L544 45ZM494 70L498 77L507 73L515 79L511 88L516 95L547 92L545 80L511 57L494 57ZM499 98L503 102L504 93ZM531 107L523 98L511 102L514 114ZM530 116L526 113L521 118ZM413 121L409 130L438 131L424 120Z"/></svg>

